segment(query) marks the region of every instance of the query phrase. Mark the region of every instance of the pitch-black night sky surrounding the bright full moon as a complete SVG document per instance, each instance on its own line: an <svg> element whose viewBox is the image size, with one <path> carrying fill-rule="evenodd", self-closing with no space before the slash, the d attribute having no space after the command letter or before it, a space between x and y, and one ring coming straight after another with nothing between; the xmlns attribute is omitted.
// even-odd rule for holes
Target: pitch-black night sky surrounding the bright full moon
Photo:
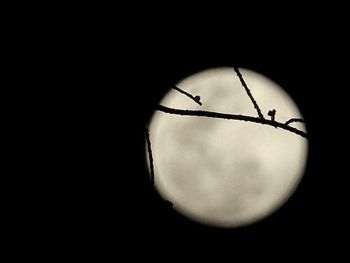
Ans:
<svg viewBox="0 0 350 263"><path fill-rule="evenodd" d="M20 157L10 164L14 190L4 212L13 255L218 262L340 255L348 236L347 16L330 3L208 4L34 6L7 19L16 27L13 50L4 50L15 94L10 143L18 141ZM145 166L145 124L168 88L222 66L280 84L310 135L293 197L271 217L231 230L174 212L154 195Z"/></svg>

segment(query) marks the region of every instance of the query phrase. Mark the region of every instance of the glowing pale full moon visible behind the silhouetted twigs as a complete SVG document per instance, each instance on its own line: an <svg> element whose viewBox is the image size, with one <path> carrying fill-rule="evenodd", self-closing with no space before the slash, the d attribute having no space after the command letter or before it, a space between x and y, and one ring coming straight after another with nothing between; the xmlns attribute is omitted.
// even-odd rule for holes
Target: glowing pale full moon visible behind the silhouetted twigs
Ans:
<svg viewBox="0 0 350 263"><path fill-rule="evenodd" d="M302 118L278 84L240 72L266 119L272 109L278 122ZM258 116L232 68L205 70L176 86L199 95L202 106L174 89L160 105ZM290 126L306 132L302 123ZM271 215L294 193L306 165L307 139L268 125L155 111L149 133L159 194L180 214L214 227L245 226ZM146 160L149 165L147 154Z"/></svg>

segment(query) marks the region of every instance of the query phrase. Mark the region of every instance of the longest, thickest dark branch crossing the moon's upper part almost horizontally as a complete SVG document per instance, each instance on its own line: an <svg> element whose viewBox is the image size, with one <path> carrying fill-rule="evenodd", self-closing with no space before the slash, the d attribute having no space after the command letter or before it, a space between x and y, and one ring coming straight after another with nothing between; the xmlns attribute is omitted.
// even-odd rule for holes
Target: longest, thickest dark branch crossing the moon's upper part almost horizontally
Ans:
<svg viewBox="0 0 350 263"><path fill-rule="evenodd" d="M284 123L277 122L277 121L271 121L271 120L267 120L267 119L261 119L261 118L252 117L252 116L226 114L226 113L202 111L202 110L181 110L181 109L168 108L168 107L165 107L162 105L158 105L157 110L165 112L165 113L176 114L176 115L197 116L197 117L208 117L208 118L217 118L217 119L255 122L255 123L269 125L269 126L276 127L276 128L281 128L281 129L290 131L292 133L295 133L297 135L300 135L304 138L308 138L308 134L306 134L305 132L298 130L296 128L290 127Z"/></svg>

